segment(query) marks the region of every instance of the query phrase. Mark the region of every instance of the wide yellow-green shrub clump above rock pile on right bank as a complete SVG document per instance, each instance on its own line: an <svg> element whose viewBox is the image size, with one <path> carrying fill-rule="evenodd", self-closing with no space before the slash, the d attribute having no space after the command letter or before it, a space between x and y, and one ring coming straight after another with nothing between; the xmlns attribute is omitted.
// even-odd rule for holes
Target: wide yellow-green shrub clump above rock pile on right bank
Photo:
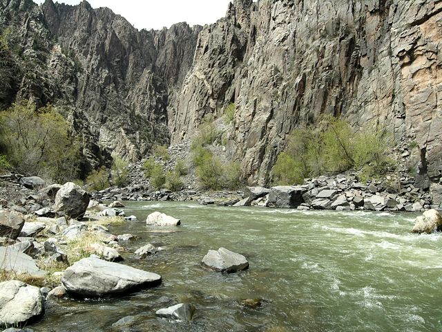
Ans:
<svg viewBox="0 0 442 332"><path fill-rule="evenodd" d="M273 182L302 183L304 178L360 169L361 176L385 174L394 164L387 156L391 146L385 130L352 132L345 120L324 116L318 127L295 129L287 147L273 165Z"/></svg>

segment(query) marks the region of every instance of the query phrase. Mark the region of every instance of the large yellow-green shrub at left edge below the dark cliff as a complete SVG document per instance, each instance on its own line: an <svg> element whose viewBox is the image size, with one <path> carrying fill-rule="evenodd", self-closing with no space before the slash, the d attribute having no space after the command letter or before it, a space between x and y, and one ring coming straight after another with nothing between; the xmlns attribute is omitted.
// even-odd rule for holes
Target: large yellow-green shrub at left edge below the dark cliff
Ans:
<svg viewBox="0 0 442 332"><path fill-rule="evenodd" d="M0 124L0 144L17 172L57 182L77 178L79 143L57 109L12 104L0 113Z"/></svg>

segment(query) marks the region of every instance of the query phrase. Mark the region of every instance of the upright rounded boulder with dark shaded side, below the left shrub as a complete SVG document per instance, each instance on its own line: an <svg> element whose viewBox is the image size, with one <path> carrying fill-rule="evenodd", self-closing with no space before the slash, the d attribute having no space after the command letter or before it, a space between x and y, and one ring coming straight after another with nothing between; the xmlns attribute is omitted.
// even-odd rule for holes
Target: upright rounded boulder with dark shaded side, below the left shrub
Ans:
<svg viewBox="0 0 442 332"><path fill-rule="evenodd" d="M54 211L62 212L74 219L81 218L88 205L88 193L75 183L68 182L55 195Z"/></svg>

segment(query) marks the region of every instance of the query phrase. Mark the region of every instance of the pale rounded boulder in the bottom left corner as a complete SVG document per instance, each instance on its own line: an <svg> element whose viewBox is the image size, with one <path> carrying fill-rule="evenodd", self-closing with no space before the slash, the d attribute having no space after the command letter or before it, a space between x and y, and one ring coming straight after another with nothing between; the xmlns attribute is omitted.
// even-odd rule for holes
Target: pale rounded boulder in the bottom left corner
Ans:
<svg viewBox="0 0 442 332"><path fill-rule="evenodd" d="M44 313L40 288L17 280L0 283L0 325L21 326Z"/></svg>

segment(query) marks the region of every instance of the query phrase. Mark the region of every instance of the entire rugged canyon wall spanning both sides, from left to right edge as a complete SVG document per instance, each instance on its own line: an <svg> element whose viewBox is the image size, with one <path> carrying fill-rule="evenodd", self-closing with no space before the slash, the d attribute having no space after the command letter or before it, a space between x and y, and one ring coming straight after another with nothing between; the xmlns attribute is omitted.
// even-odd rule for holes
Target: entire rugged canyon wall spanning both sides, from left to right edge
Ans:
<svg viewBox="0 0 442 332"><path fill-rule="evenodd" d="M329 113L416 140L417 184L442 190L442 0L236 0L215 24L160 31L85 1L0 0L0 17L26 50L38 35L48 68L27 81L11 66L24 78L8 91L70 109L90 159L135 160L153 142L191 139L234 102L227 151L249 183L269 181L292 129Z"/></svg>

